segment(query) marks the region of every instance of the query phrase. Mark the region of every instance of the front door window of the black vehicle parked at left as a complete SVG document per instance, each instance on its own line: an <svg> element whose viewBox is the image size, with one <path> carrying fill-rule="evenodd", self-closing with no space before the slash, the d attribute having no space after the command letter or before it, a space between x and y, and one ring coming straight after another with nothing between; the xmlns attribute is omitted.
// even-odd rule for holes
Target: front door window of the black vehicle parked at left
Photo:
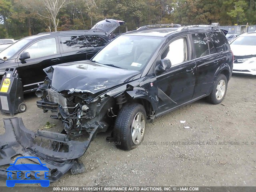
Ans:
<svg viewBox="0 0 256 192"><path fill-rule="evenodd" d="M55 38L40 40L32 44L24 52L30 54L30 58L38 58L57 54L57 46Z"/></svg>

